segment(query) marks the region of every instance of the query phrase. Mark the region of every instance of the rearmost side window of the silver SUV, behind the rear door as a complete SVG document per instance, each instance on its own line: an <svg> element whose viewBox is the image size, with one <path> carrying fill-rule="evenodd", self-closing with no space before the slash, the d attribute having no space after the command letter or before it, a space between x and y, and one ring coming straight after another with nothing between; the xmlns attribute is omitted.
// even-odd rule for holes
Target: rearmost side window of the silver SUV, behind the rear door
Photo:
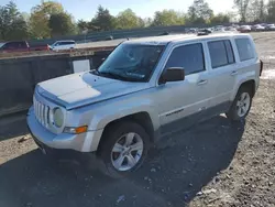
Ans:
<svg viewBox="0 0 275 207"><path fill-rule="evenodd" d="M237 39L235 44L238 47L240 59L242 62L248 61L248 59L252 59L255 57L254 48L251 45L251 41L249 39Z"/></svg>

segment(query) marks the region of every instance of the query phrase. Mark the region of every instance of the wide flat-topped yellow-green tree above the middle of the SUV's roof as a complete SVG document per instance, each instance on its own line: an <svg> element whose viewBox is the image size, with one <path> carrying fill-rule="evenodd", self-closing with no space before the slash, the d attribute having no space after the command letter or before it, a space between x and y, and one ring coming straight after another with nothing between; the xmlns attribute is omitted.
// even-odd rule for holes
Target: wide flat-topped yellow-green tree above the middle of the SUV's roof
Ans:
<svg viewBox="0 0 275 207"><path fill-rule="evenodd" d="M152 26L182 24L185 24L185 15L175 10L156 11L152 21Z"/></svg>

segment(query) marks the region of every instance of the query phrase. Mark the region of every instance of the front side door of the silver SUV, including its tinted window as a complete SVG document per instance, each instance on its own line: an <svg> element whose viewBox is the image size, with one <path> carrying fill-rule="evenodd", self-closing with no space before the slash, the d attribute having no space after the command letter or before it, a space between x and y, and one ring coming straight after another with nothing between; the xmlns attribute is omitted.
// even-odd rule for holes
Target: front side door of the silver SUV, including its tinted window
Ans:
<svg viewBox="0 0 275 207"><path fill-rule="evenodd" d="M208 108L208 70L202 43L173 48L165 68L183 67L185 80L158 86L158 117L162 133L188 128L204 118Z"/></svg>

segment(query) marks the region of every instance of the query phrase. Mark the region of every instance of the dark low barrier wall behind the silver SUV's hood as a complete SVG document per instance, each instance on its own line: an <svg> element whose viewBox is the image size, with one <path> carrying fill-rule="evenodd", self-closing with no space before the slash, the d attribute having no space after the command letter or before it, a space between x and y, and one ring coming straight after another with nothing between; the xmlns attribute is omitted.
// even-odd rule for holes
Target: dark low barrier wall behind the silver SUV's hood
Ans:
<svg viewBox="0 0 275 207"><path fill-rule="evenodd" d="M101 51L100 51L101 50ZM37 83L82 70L75 62L88 62L89 68L97 68L101 59L110 54L108 47L94 51L74 51L67 54L41 52L16 54L0 59L0 116L26 110L32 105ZM14 55L14 54L12 54ZM81 65L80 65L81 67Z"/></svg>

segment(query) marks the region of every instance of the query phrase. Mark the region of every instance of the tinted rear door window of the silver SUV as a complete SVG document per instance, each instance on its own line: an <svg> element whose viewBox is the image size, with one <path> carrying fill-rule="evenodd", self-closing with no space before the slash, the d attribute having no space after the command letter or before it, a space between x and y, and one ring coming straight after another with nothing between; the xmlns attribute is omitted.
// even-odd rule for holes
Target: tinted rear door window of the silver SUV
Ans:
<svg viewBox="0 0 275 207"><path fill-rule="evenodd" d="M231 42L213 41L208 43L212 68L222 67L235 62Z"/></svg>

